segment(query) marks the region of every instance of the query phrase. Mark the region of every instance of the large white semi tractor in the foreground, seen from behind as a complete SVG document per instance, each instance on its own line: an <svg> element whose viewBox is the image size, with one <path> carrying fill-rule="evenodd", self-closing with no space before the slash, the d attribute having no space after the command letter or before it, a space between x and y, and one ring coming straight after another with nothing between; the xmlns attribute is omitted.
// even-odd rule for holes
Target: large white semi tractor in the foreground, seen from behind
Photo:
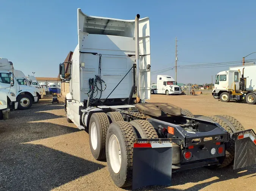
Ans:
<svg viewBox="0 0 256 191"><path fill-rule="evenodd" d="M149 18L94 17L80 9L78 45L60 78L70 93L68 122L89 133L91 153L106 159L118 187L171 185L173 172L256 163L253 129L230 116L201 116L150 99ZM253 152L254 151L254 152ZM193 179L193 176L192 176Z"/></svg>

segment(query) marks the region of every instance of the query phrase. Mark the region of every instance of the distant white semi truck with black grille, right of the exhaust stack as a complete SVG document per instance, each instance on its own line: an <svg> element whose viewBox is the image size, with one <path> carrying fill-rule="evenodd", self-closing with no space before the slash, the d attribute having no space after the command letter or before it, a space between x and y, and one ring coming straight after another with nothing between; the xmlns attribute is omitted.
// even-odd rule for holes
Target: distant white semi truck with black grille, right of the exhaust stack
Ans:
<svg viewBox="0 0 256 191"><path fill-rule="evenodd" d="M157 75L157 85L152 87L151 94L174 95L182 93L181 88L170 75Z"/></svg>

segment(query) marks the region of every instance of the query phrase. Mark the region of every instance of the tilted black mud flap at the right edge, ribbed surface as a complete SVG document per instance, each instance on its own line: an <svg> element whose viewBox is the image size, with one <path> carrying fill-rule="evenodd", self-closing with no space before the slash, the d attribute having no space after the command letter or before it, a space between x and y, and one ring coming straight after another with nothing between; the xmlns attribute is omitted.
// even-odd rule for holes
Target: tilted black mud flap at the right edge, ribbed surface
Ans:
<svg viewBox="0 0 256 191"><path fill-rule="evenodd" d="M235 140L234 169L256 164L256 134L253 129L247 129L231 134Z"/></svg>

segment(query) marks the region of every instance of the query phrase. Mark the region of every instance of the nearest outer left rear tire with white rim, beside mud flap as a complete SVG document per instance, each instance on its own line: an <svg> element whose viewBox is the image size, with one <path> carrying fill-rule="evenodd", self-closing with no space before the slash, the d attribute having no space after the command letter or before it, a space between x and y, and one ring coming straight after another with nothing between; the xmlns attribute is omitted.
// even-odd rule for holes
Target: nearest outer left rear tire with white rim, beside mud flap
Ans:
<svg viewBox="0 0 256 191"><path fill-rule="evenodd" d="M106 158L110 176L119 188L132 185L135 131L129 122L113 122L107 131Z"/></svg>

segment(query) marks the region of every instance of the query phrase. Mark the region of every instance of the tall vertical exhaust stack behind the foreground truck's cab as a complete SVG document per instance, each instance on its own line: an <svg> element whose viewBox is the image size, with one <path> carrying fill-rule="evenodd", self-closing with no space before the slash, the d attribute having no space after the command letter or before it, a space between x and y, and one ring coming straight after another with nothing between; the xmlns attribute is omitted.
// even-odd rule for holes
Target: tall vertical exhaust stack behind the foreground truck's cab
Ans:
<svg viewBox="0 0 256 191"><path fill-rule="evenodd" d="M136 103L140 102L139 18L140 18L140 15L137 14L135 17L135 60L136 60L136 86L137 86Z"/></svg>

